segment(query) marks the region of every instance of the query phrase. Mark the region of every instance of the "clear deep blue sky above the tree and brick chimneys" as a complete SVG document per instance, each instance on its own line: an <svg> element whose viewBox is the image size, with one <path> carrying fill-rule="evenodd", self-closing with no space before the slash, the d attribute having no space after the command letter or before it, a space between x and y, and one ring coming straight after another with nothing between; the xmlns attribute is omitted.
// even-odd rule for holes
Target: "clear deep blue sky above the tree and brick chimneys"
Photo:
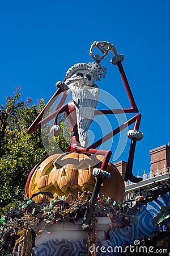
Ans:
<svg viewBox="0 0 170 256"><path fill-rule="evenodd" d="M145 138L137 143L134 174L149 172L149 150L170 142L169 7L169 0L1 1L0 103L18 85L23 100L47 102L71 65L92 61L91 44L107 40L125 56L122 64L142 114ZM104 60L105 80L97 84L128 108L111 57ZM129 141L117 160L127 160L128 148Z"/></svg>

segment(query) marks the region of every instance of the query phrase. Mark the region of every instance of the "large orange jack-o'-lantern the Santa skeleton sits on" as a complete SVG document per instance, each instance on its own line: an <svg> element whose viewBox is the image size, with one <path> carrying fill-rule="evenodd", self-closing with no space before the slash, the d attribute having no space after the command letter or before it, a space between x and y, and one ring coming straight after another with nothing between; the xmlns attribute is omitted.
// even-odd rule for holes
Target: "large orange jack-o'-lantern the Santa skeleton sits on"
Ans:
<svg viewBox="0 0 170 256"><path fill-rule="evenodd" d="M97 164L95 165L97 160ZM37 164L33 174L29 175L26 185L28 196L39 191L50 191L59 196L75 195L80 191L93 191L95 177L92 175L94 167L100 168L103 156L79 153L54 154ZM111 179L104 180L100 189L105 196L112 200L124 200L124 181L117 168L109 162L107 171L111 172ZM35 197L39 201L40 197Z"/></svg>

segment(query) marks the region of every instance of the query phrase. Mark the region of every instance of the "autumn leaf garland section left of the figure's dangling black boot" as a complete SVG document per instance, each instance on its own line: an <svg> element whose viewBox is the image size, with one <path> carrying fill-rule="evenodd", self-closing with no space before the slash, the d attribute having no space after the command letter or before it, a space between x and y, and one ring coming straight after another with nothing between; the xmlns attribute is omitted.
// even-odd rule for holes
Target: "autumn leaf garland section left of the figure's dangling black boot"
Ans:
<svg viewBox="0 0 170 256"><path fill-rule="evenodd" d="M45 191L44 191L45 192ZM35 196L39 194L36 193ZM49 197L53 196L45 192ZM32 250L31 228L36 226L36 236L46 232L46 225L57 224L69 220L74 222L84 216L89 200L75 199L70 201L68 197L59 197L46 203L35 203L31 198L24 198L22 204L17 208L12 208L5 217L0 219L0 255L8 255L15 251L21 256L31 255ZM73 224L74 225L74 224ZM29 250L28 250L29 249ZM24 252L27 252L24 254Z"/></svg>

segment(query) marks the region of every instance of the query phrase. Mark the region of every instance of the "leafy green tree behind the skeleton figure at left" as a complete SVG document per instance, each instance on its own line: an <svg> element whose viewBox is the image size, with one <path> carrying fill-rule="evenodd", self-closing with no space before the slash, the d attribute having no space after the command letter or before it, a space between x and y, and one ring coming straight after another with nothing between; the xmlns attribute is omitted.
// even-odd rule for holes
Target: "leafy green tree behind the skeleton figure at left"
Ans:
<svg viewBox="0 0 170 256"><path fill-rule="evenodd" d="M14 97L0 104L0 216L23 200L25 183L32 168L46 155L41 131L27 133L28 127L44 108L44 100L32 105L31 98L20 100L20 88ZM59 139L63 150L63 138Z"/></svg>

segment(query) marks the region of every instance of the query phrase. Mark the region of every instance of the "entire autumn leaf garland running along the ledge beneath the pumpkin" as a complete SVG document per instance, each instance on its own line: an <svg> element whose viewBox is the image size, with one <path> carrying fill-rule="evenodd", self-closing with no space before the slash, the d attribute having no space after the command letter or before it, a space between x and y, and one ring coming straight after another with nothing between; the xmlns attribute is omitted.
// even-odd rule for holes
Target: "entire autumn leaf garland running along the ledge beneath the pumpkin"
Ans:
<svg viewBox="0 0 170 256"><path fill-rule="evenodd" d="M111 198L99 193L87 237L87 249L93 244L96 246L97 243L97 217L109 217L113 230L116 226L124 228L130 224L135 225L137 224L135 214L140 211L140 206L147 204L152 197L155 199L170 191L169 184L169 180L164 185L159 184L156 187L155 184L155 188L147 191L145 198L142 195L136 195L135 199L124 203L112 201ZM53 197L49 192L44 193ZM67 197L56 197L46 203L35 203L33 196L30 199L24 198L18 208L11 207L6 216L0 219L0 255L10 253L14 255L15 251L18 251L18 256L28 255L27 253L31 252L34 246L35 236L41 236L43 232L46 232L46 225L54 225L66 220L74 223L83 218L87 208L90 207L91 195L91 192L79 192L76 196L70 194ZM160 209L160 214L155 217L153 223L160 225L163 221L168 221L169 214L169 207ZM43 225L39 225L40 223ZM169 230L170 225L169 222L167 223ZM37 226L36 233L32 230L33 225ZM50 236L50 232L48 235ZM91 255L95 256L95 252Z"/></svg>

